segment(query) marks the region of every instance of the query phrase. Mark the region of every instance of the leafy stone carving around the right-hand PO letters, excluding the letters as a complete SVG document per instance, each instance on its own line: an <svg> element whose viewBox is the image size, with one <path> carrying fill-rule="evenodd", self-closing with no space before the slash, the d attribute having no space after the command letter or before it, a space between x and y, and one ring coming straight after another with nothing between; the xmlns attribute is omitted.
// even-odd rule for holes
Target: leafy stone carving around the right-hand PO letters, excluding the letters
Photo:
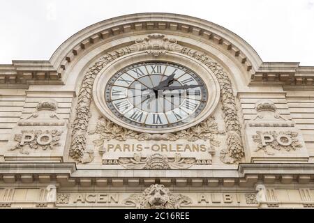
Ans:
<svg viewBox="0 0 314 223"><path fill-rule="evenodd" d="M265 144L262 143L262 135L270 135L273 137L273 141L267 142ZM278 143L276 138L280 135L285 135L291 139L291 143L287 145L282 145ZM274 153L271 153L268 148L272 148L276 151L295 151L297 148L301 148L302 144L299 141L298 137L298 132L293 132L293 131L283 131L283 132L276 132L276 131L269 131L269 132L260 132L257 131L255 135L252 136L253 141L257 143L257 149L256 151L262 150L264 153L268 155L274 155Z"/></svg>

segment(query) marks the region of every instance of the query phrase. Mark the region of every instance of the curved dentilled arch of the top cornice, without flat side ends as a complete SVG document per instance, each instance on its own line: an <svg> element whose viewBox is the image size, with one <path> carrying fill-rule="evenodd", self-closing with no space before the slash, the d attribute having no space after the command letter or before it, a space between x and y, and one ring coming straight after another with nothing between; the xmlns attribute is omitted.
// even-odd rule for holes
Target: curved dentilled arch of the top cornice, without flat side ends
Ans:
<svg viewBox="0 0 314 223"><path fill-rule="evenodd" d="M155 32L177 36L178 40L179 37L191 38L204 45L216 47L220 52L232 56L243 67L248 80L251 73L262 64L260 56L245 40L222 26L195 17L170 13L125 15L88 26L68 38L54 52L50 62L62 74L63 82L66 82L70 64L94 47L114 40L119 42L119 39L125 37Z"/></svg>

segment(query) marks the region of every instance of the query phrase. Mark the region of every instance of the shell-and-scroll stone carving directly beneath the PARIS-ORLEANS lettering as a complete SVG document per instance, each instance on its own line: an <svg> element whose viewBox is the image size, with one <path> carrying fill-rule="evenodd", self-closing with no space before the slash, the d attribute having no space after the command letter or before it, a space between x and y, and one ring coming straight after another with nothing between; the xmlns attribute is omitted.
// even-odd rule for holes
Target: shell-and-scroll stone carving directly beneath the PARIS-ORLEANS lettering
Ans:
<svg viewBox="0 0 314 223"><path fill-rule="evenodd" d="M135 153L133 158L119 158L118 163L126 169L188 169L196 163L196 160L182 158L179 153L176 153L174 158L159 153L142 157L140 153Z"/></svg>

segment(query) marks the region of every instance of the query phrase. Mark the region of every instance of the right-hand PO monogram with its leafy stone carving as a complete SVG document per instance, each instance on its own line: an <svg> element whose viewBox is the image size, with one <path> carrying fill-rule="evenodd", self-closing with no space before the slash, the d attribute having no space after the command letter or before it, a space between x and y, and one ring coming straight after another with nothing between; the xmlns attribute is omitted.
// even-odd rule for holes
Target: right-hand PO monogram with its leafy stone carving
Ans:
<svg viewBox="0 0 314 223"><path fill-rule="evenodd" d="M274 155L270 152L268 148L276 151L295 151L297 148L301 148L302 144L299 141L298 132L294 131L268 131L260 132L257 131L255 135L252 136L253 141L257 143L256 151L262 150L268 155Z"/></svg>

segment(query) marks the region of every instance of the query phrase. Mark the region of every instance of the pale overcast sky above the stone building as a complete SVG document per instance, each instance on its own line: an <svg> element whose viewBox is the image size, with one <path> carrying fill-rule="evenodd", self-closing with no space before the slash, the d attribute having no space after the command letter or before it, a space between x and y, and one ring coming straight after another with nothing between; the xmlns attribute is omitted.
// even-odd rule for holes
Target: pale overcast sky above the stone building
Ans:
<svg viewBox="0 0 314 223"><path fill-rule="evenodd" d="M200 17L244 38L262 61L314 66L314 0L0 0L0 64L49 60L77 31L131 13Z"/></svg>

